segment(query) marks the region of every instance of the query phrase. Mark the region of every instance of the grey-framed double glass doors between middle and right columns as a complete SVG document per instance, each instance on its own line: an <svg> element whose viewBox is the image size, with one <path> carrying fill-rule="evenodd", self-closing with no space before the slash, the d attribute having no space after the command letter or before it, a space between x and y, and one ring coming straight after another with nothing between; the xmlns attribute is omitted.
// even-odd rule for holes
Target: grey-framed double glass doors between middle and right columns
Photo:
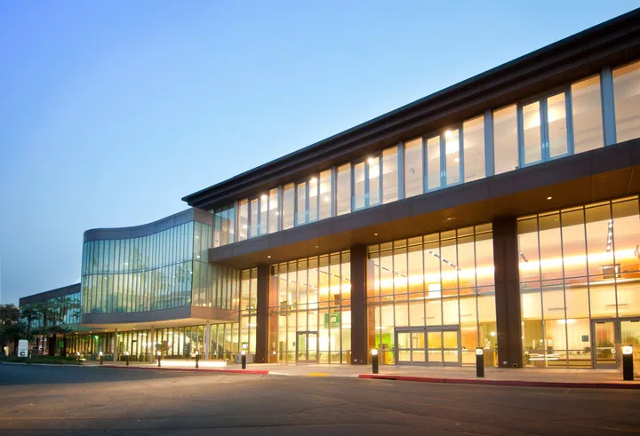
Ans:
<svg viewBox="0 0 640 436"><path fill-rule="evenodd" d="M398 365L460 365L458 326L396 329Z"/></svg>

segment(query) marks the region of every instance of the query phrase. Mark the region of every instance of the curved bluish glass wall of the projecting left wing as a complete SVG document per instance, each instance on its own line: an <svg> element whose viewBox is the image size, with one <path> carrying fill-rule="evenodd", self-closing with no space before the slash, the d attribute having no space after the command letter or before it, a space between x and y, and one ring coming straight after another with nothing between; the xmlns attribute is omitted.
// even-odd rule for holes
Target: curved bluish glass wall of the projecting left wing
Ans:
<svg viewBox="0 0 640 436"><path fill-rule="evenodd" d="M84 243L83 313L131 313L191 303L193 221L139 238Z"/></svg>

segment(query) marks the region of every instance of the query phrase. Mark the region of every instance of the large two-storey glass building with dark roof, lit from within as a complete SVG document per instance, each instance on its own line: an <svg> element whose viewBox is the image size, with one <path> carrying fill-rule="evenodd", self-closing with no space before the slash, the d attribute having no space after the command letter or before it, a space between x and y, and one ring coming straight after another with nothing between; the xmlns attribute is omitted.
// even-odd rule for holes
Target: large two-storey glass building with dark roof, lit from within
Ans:
<svg viewBox="0 0 640 436"><path fill-rule="evenodd" d="M639 169L640 9L85 232L74 351L615 368Z"/></svg>

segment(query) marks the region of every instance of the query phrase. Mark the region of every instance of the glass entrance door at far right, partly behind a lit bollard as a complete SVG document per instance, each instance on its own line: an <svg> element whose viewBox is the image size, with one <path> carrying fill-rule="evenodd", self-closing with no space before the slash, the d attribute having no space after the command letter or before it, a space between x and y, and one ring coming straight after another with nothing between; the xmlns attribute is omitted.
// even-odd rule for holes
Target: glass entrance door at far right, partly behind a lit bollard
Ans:
<svg viewBox="0 0 640 436"><path fill-rule="evenodd" d="M633 345L634 368L640 365L640 318L593 320L591 336L595 369L618 368L621 345Z"/></svg>

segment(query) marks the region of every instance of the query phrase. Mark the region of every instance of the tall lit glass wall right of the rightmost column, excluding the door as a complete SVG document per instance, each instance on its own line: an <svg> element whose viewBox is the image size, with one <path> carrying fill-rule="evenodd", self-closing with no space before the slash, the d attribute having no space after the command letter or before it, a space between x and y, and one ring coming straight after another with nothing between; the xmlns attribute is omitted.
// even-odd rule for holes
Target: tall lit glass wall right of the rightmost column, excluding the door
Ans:
<svg viewBox="0 0 640 436"><path fill-rule="evenodd" d="M637 197L518 220L525 365L590 368L591 321L640 315L638 241Z"/></svg>

